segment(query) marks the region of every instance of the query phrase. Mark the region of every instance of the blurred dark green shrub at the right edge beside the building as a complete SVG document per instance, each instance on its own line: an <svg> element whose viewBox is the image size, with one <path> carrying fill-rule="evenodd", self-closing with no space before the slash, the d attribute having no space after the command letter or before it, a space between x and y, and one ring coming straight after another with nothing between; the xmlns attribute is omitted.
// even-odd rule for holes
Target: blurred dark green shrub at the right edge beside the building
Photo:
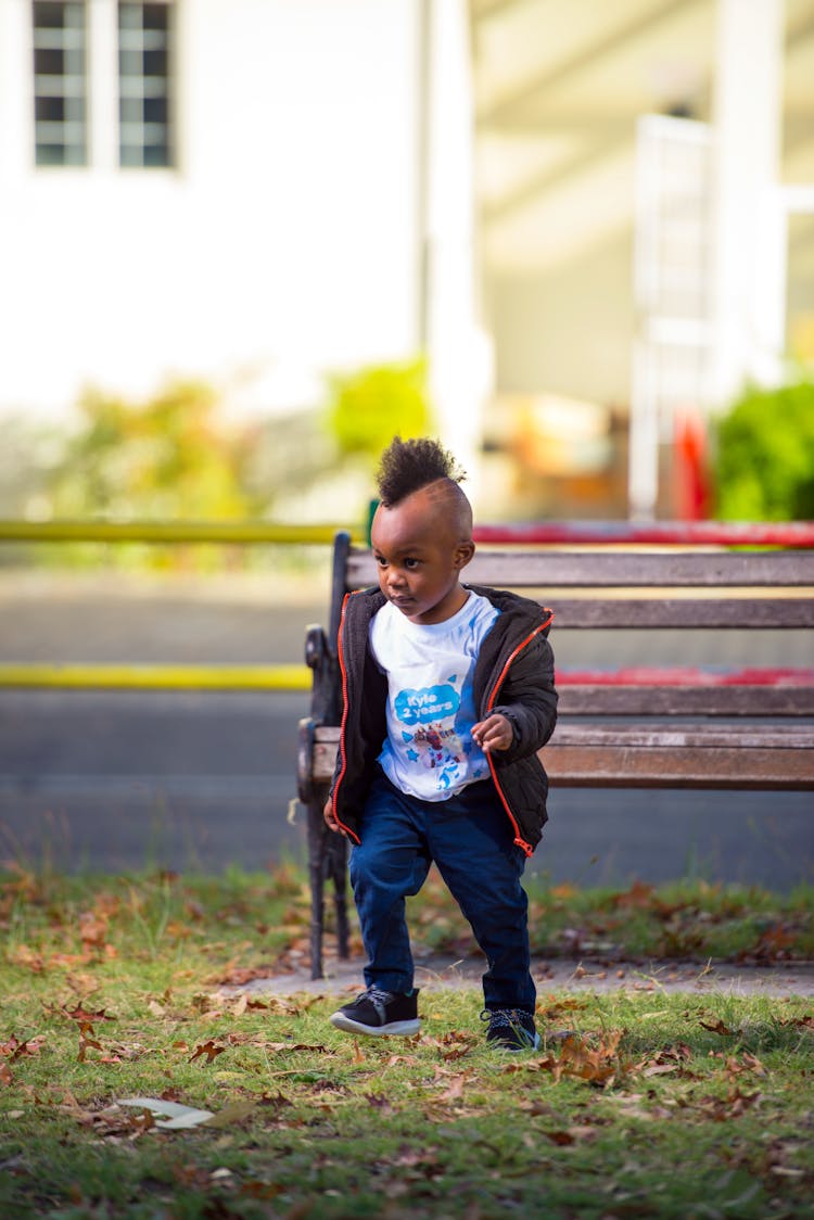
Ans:
<svg viewBox="0 0 814 1220"><path fill-rule="evenodd" d="M749 388L715 428L716 516L814 520L814 382Z"/></svg>

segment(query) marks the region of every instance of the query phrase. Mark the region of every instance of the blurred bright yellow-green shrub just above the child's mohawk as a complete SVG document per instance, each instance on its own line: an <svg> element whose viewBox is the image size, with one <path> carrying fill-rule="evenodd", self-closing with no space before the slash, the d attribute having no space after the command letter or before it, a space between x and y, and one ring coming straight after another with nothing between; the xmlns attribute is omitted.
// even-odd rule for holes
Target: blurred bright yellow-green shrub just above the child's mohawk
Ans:
<svg viewBox="0 0 814 1220"><path fill-rule="evenodd" d="M421 437L432 409L423 359L328 378L326 423L343 455L378 458L394 436Z"/></svg>

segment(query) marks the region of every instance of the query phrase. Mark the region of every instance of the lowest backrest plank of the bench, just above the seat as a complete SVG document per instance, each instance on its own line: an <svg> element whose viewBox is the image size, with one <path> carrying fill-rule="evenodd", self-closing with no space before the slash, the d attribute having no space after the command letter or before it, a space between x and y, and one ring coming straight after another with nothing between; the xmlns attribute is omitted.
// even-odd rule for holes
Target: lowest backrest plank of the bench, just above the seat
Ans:
<svg viewBox="0 0 814 1220"><path fill-rule="evenodd" d="M565 716L814 716L814 687L558 686Z"/></svg>

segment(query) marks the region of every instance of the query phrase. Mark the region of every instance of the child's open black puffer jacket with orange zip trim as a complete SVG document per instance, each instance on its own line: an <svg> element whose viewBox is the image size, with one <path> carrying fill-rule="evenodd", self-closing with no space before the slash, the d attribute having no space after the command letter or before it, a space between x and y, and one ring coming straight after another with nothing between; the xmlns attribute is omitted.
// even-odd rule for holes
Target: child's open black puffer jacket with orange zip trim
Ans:
<svg viewBox="0 0 814 1220"><path fill-rule="evenodd" d="M467 588L500 611L475 664L475 706L481 720L502 712L514 728L511 747L487 754L487 759L515 843L531 855L548 819L548 780L537 750L556 723L554 656L547 639L553 616L515 593L475 584ZM339 626L344 703L331 794L337 821L355 842L359 815L387 736L387 677L367 644L370 620L384 600L378 589L349 593Z"/></svg>

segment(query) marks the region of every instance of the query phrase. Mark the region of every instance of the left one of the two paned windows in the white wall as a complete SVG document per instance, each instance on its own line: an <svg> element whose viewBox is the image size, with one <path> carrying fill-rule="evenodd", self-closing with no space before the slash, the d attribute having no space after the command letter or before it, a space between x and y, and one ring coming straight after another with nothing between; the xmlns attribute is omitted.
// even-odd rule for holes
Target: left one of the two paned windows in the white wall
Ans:
<svg viewBox="0 0 814 1220"><path fill-rule="evenodd" d="M37 165L87 165L84 0L34 0L33 22Z"/></svg>

